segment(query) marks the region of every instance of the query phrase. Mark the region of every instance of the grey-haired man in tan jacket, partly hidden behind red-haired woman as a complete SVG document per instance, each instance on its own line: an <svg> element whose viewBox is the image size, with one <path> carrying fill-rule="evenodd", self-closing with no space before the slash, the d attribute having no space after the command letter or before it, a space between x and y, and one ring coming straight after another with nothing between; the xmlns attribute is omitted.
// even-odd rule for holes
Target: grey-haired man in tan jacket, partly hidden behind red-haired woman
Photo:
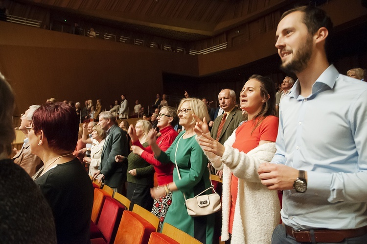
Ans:
<svg viewBox="0 0 367 244"><path fill-rule="evenodd" d="M16 152L16 155L12 158L14 163L22 167L31 177L44 165L38 156L31 153L28 142L28 130L26 129L26 127L30 126L32 123L34 111L39 107L38 105L32 105L22 114L19 129L24 133L26 138L19 151L16 148L13 149Z"/></svg>

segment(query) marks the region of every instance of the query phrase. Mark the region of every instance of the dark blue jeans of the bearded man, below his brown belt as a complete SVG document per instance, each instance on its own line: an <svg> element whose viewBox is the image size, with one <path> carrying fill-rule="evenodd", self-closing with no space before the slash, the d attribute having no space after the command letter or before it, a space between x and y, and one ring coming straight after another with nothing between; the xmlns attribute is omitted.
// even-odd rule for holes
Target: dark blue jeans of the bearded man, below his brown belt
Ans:
<svg viewBox="0 0 367 244"><path fill-rule="evenodd" d="M334 244L366 244L366 243L367 243L367 234L363 236L346 238L344 239L343 242ZM278 226L276 226L273 232L272 244L314 244L314 243L297 242L293 237L287 235L287 232L285 231L285 226L279 224ZM317 244L332 244L332 243L317 243Z"/></svg>

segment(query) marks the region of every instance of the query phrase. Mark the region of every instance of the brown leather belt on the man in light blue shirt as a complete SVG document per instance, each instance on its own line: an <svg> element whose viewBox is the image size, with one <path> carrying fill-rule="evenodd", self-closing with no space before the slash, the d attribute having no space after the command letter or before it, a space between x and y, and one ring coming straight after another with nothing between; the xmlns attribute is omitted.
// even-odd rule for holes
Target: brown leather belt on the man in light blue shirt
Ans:
<svg viewBox="0 0 367 244"><path fill-rule="evenodd" d="M297 242L313 242L313 237L316 242L321 243L340 243L345 238L362 236L367 233L367 226L357 229L348 230L330 230L330 229L314 229L314 230L295 230L285 225L285 230L288 235L296 239ZM312 234L313 232L313 234Z"/></svg>

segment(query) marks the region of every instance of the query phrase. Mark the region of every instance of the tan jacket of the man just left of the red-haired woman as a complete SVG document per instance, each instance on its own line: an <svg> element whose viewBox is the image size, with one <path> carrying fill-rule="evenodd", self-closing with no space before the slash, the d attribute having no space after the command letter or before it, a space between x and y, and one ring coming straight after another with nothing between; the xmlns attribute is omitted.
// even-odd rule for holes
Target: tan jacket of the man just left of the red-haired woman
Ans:
<svg viewBox="0 0 367 244"><path fill-rule="evenodd" d="M44 165L37 155L31 153L29 143L24 144L12 159L14 163L22 167L30 177Z"/></svg>

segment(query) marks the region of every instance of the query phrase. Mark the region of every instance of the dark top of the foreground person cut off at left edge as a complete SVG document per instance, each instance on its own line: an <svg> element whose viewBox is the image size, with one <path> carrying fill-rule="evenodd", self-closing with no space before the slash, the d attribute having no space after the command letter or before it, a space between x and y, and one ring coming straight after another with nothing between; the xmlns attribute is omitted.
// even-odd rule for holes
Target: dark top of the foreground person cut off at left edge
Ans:
<svg viewBox="0 0 367 244"><path fill-rule="evenodd" d="M11 159L0 160L0 242L56 243L46 199L29 175Z"/></svg>

